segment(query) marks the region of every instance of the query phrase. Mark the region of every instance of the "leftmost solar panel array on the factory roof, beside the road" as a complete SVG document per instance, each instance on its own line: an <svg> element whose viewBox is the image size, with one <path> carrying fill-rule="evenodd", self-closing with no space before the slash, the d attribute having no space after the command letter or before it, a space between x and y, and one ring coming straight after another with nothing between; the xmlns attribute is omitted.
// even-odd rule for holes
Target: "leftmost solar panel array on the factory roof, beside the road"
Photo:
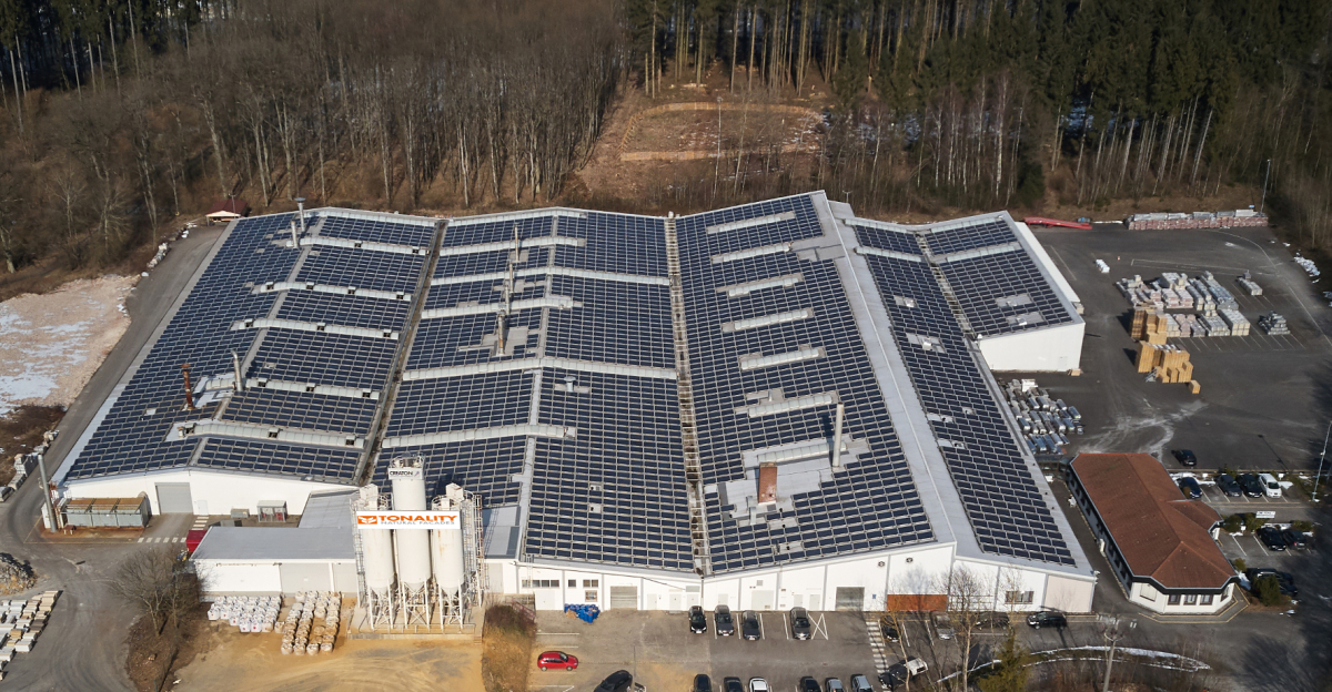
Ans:
<svg viewBox="0 0 1332 692"><path fill-rule="evenodd" d="M216 256L71 463L67 479L193 463L329 482L353 480L362 454L358 450L241 438L204 438L202 443L192 436L166 439L174 425L204 418L370 434L382 399L349 393L334 395L256 386L232 394L226 387L220 390L222 397L202 399L205 405L194 411L184 410L180 365L192 365L196 383L205 378L230 378L233 351L246 361L246 379L353 387L381 394L386 390L398 341L285 327L233 329L238 321L268 317L376 330L406 327L409 301L316 290L256 291L254 286L289 281L417 290L422 256L328 245L293 249L288 246L292 218L292 214L274 214L241 220L218 241ZM418 246L429 246L434 233L430 224L378 221L337 212L306 214L306 228L310 236Z"/></svg>

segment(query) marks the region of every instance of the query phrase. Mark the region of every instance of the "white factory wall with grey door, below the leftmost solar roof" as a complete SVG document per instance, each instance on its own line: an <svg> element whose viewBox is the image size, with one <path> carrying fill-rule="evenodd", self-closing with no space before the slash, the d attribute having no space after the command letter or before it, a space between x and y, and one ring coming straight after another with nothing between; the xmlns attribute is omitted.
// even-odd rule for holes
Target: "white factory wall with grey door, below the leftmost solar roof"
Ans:
<svg viewBox="0 0 1332 692"><path fill-rule="evenodd" d="M233 508L246 508L258 514L260 502L286 502L288 514L301 514L310 492L348 490L338 483L316 483L264 474L226 474L204 470L180 470L160 474L113 475L72 479L65 483L71 498L133 498L148 495L153 514L157 507L159 483L189 483L194 500L194 514L229 514Z"/></svg>

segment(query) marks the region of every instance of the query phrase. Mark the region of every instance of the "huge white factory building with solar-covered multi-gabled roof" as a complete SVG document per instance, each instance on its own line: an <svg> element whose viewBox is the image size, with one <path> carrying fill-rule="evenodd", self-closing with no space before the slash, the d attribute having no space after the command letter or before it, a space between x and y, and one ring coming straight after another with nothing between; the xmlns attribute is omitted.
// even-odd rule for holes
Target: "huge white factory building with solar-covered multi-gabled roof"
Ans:
<svg viewBox="0 0 1332 692"><path fill-rule="evenodd" d="M1082 612L1095 574L991 375L1076 370L1082 337L1007 213L273 214L232 222L56 479L155 512L440 498L480 510L469 579L538 608L882 609L964 567ZM410 532L353 552L429 607Z"/></svg>

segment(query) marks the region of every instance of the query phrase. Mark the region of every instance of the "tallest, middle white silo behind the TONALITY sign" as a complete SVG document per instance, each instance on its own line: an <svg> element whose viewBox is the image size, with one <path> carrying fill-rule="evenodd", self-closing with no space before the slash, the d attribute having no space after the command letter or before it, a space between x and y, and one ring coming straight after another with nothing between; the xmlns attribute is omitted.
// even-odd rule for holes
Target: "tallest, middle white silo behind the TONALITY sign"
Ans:
<svg viewBox="0 0 1332 692"><path fill-rule="evenodd" d="M400 456L389 463L393 483L393 511L424 511L425 460L420 456ZM400 528L393 532L398 558L400 607L404 624L430 623L430 531Z"/></svg>

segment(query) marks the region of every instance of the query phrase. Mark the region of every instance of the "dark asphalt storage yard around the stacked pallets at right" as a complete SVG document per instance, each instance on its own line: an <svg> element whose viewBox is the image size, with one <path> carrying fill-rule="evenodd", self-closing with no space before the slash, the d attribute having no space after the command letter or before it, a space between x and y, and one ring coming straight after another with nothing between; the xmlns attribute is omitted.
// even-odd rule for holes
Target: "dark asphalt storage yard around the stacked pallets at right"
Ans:
<svg viewBox="0 0 1332 692"><path fill-rule="evenodd" d="M1332 309L1320 293L1332 285L1311 282L1269 229L1131 232L1098 225L1092 232L1034 233L1084 307L1082 375L1026 374L1082 411L1086 434L1072 439L1072 452L1146 451L1172 470L1180 467L1167 450L1176 447L1197 454L1199 471L1317 466L1332 417L1332 398L1325 395L1332 390L1332 339L1327 337ZM1108 274L1096 270L1096 260L1110 265ZM1146 382L1134 367L1132 309L1115 281L1140 274L1150 282L1163 271L1196 277L1204 270L1231 289L1240 311L1253 322L1251 334L1171 339L1189 351L1199 395L1184 385ZM1245 270L1263 295L1240 291L1235 277ZM1289 335L1271 337L1257 327L1257 315L1271 310L1285 315ZM1015 374L996 377L1006 381Z"/></svg>

